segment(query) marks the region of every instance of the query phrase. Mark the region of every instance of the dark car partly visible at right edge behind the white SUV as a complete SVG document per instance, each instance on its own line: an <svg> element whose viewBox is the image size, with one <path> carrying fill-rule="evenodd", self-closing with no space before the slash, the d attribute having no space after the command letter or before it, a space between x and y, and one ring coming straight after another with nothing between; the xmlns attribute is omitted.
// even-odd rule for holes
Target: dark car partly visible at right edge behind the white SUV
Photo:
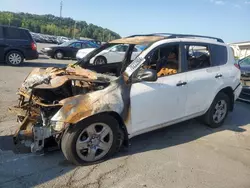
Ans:
<svg viewBox="0 0 250 188"><path fill-rule="evenodd" d="M239 99L250 102L250 56L247 56L238 61L241 70L242 92Z"/></svg>

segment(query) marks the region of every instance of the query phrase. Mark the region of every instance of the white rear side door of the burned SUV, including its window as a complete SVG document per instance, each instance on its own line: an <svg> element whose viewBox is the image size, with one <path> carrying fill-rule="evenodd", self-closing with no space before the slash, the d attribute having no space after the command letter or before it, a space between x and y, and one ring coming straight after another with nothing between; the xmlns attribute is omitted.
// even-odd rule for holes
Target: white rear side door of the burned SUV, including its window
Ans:
<svg viewBox="0 0 250 188"><path fill-rule="evenodd" d="M223 69L216 64L210 44L185 43L187 72L186 116L204 113L224 81Z"/></svg>

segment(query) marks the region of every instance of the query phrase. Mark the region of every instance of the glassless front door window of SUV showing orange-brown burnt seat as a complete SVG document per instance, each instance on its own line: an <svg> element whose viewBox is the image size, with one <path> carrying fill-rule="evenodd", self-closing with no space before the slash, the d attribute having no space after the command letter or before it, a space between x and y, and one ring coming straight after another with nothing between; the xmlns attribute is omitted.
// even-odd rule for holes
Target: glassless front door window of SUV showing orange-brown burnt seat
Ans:
<svg viewBox="0 0 250 188"><path fill-rule="evenodd" d="M158 77L176 74L180 67L179 45L156 48L146 59L144 68L156 70Z"/></svg>

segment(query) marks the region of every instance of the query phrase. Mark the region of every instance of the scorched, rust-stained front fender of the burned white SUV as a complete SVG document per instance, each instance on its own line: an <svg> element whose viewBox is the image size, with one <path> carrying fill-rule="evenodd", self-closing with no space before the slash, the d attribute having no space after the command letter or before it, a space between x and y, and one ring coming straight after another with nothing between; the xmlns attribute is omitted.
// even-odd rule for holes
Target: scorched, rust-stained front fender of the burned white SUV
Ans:
<svg viewBox="0 0 250 188"><path fill-rule="evenodd" d="M76 124L95 114L115 112L125 122L128 118L128 110L130 109L129 102L129 88L124 87L124 84L121 84L118 80L103 90L76 95L60 101L59 104L62 107L52 117L51 121Z"/></svg>

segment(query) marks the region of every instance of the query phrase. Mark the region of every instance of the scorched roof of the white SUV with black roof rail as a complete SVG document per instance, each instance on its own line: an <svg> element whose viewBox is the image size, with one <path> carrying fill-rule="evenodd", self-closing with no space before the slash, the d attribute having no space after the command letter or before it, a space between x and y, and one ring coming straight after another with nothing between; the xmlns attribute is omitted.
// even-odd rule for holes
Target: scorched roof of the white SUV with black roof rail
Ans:
<svg viewBox="0 0 250 188"><path fill-rule="evenodd" d="M216 41L216 43L224 43L220 38L201 36L201 35L189 35L189 34L171 34L171 33L154 33L154 34L144 34L144 35L133 35L121 39L116 39L110 41L109 43L117 44L145 44L150 42L156 42L163 39L199 39L199 41Z"/></svg>

